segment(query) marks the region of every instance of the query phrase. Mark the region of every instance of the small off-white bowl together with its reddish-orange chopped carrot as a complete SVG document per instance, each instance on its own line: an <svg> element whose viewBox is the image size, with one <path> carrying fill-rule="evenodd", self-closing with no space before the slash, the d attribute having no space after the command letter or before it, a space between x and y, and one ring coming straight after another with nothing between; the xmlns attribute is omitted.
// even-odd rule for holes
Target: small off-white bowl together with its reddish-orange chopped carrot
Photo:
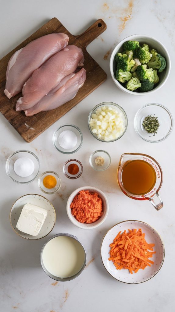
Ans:
<svg viewBox="0 0 175 312"><path fill-rule="evenodd" d="M77 188L68 198L67 215L81 229L99 227L106 219L109 204L105 194L98 188Z"/></svg>

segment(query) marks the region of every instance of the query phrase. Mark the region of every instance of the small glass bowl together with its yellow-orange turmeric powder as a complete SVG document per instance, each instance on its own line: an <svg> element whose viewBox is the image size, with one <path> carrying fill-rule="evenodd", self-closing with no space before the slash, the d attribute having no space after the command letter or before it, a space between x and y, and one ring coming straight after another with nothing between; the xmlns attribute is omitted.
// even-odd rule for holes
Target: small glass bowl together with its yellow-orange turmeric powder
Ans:
<svg viewBox="0 0 175 312"><path fill-rule="evenodd" d="M61 179L54 171L46 171L38 178L38 187L46 194L54 194L61 188Z"/></svg>

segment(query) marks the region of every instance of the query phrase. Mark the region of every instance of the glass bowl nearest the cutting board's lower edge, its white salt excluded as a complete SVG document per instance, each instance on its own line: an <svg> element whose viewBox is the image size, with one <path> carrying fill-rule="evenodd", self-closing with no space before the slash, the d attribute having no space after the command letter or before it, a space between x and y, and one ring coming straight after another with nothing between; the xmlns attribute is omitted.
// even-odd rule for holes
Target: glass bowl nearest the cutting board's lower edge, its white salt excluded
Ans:
<svg viewBox="0 0 175 312"><path fill-rule="evenodd" d="M66 131L66 130L70 130L70 131L74 132L77 136L77 144L72 149L62 148L61 145L59 144L59 141L58 141L58 138L59 138L59 135L61 134L61 132ZM82 135L80 129L78 127L74 126L73 124L65 124L63 126L60 126L58 129L56 129L56 131L53 134L53 144L54 144L55 148L63 154L73 154L73 153L77 152L80 149L82 143L83 143L83 135Z"/></svg>

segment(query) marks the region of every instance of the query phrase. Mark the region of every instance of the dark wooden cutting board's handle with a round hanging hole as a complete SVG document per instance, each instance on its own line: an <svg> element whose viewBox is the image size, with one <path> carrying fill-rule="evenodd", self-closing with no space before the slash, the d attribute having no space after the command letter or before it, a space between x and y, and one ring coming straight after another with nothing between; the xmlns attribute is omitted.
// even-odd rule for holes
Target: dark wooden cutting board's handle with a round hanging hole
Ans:
<svg viewBox="0 0 175 312"><path fill-rule="evenodd" d="M82 34L75 36L82 46L88 46L96 37L98 37L102 32L105 31L107 25L105 22L99 18L94 24L92 24L88 29Z"/></svg>

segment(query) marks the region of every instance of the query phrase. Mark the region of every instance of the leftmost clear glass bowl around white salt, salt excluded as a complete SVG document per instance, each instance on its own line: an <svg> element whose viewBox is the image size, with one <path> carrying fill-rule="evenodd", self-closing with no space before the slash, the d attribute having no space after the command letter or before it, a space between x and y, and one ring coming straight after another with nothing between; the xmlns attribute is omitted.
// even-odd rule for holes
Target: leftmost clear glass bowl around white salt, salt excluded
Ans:
<svg viewBox="0 0 175 312"><path fill-rule="evenodd" d="M13 168L14 163L18 158L21 158L21 157L28 157L34 163L34 167L35 167L34 171L28 177L20 177L14 171L14 168ZM19 151L14 152L7 158L7 161L6 161L6 173L9 176L9 178L16 183L20 183L20 184L31 183L33 180L36 179L39 173L39 170L40 170L39 159L34 153L27 151L27 150L19 150Z"/></svg>

